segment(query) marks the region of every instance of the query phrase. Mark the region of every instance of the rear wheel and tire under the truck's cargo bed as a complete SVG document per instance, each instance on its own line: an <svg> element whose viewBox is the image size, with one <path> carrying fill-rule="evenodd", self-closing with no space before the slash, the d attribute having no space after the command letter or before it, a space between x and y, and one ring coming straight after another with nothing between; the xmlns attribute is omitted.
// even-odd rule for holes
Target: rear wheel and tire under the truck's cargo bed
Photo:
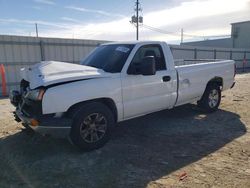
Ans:
<svg viewBox="0 0 250 188"><path fill-rule="evenodd" d="M216 83L210 83L201 98L198 101L198 106L205 112L214 112L218 110L221 101L221 90L220 86Z"/></svg>

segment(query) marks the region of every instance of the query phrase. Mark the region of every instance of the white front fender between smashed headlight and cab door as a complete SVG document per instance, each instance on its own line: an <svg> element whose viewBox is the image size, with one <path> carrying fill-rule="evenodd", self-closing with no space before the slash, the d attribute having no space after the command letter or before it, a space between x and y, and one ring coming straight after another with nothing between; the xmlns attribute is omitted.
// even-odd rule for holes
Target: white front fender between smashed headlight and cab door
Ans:
<svg viewBox="0 0 250 188"><path fill-rule="evenodd" d="M120 77L82 80L50 87L43 96L42 112L66 112L74 104L98 98L112 99L117 107L118 120L122 119Z"/></svg>

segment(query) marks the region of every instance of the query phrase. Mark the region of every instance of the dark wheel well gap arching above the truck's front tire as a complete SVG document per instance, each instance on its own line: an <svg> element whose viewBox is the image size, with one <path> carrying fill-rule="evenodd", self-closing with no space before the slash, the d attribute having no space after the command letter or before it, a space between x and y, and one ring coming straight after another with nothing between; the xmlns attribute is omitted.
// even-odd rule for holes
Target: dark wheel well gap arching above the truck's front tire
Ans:
<svg viewBox="0 0 250 188"><path fill-rule="evenodd" d="M80 108L80 106L91 103L91 102L99 102L99 103L103 103L104 105L106 105L114 114L115 121L117 121L117 116L118 116L117 108L116 108L115 102L110 98L98 98L98 99L92 99L92 100L76 103L67 110L66 115L69 117L72 117L73 114L75 114L75 112Z"/></svg>

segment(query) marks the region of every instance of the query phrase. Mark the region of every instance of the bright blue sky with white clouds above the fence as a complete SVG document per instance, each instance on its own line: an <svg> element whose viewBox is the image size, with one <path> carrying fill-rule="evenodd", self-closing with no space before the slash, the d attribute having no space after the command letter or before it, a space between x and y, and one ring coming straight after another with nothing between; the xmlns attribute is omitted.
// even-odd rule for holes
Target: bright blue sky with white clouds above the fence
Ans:
<svg viewBox="0 0 250 188"><path fill-rule="evenodd" d="M135 0L0 0L0 34L134 40ZM230 35L230 23L250 20L250 0L141 0L141 40L180 42ZM158 32L149 30L156 28ZM151 28L152 29L152 28ZM156 30L153 29L153 30ZM199 37L204 36L204 37Z"/></svg>

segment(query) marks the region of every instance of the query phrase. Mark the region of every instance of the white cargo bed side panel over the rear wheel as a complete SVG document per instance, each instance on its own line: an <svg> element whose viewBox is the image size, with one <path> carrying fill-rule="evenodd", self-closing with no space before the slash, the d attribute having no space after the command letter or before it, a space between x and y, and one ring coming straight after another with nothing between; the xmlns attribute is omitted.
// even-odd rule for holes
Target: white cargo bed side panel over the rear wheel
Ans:
<svg viewBox="0 0 250 188"><path fill-rule="evenodd" d="M223 90L234 82L234 61L200 63L176 66L179 75L179 97L176 106L199 100L207 83L215 78L223 78Z"/></svg>

